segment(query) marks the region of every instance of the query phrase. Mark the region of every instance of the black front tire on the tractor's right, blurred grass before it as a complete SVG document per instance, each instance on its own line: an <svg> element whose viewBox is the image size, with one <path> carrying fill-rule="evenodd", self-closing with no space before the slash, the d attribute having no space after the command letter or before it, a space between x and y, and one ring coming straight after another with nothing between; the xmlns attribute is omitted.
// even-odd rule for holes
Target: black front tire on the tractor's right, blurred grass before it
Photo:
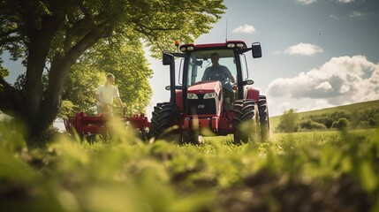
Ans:
<svg viewBox="0 0 379 212"><path fill-rule="evenodd" d="M234 143L258 141L258 106L254 100L238 100L233 110Z"/></svg>

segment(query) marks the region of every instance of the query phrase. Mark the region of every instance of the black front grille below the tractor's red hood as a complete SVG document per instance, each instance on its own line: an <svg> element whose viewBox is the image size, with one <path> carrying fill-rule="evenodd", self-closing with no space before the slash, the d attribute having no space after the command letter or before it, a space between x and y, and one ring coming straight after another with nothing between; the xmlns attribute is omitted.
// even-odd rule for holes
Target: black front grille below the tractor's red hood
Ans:
<svg viewBox="0 0 379 212"><path fill-rule="evenodd" d="M204 99L204 95L197 95L199 99L187 99L188 115L216 115L218 99Z"/></svg>

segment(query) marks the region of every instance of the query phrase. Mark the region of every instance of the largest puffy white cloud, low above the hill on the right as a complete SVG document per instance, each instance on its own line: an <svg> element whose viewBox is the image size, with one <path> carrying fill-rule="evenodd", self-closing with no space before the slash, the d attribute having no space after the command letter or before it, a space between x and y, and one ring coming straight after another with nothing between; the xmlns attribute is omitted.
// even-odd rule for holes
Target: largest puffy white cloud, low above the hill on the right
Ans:
<svg viewBox="0 0 379 212"><path fill-rule="evenodd" d="M294 78L274 79L266 92L271 97L322 101L342 105L379 99L379 64L364 56L332 57L318 69Z"/></svg>

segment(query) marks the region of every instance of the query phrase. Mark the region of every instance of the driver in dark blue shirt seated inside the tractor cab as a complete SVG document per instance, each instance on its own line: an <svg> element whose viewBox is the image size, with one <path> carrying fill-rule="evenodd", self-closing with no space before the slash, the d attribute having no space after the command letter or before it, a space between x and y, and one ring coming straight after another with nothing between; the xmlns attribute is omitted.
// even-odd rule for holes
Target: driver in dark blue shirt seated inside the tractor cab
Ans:
<svg viewBox="0 0 379 212"><path fill-rule="evenodd" d="M233 75L231 74L231 71L229 71L226 66L218 64L220 56L216 52L212 53L212 55L210 55L210 58L212 61L212 66L209 66L205 70L201 80L220 80L223 83L226 79L231 79L232 83L236 82Z"/></svg>

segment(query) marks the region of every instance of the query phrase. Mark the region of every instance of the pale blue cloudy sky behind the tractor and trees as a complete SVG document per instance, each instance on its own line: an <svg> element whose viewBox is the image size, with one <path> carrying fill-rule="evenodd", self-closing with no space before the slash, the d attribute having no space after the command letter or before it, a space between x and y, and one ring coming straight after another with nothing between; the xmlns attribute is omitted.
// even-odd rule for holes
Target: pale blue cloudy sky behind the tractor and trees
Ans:
<svg viewBox="0 0 379 212"><path fill-rule="evenodd" d="M379 99L379 1L224 0L223 18L195 43L243 40L262 45L262 58L248 54L249 76L267 95L271 117L284 110L317 110ZM148 52L147 52L148 57ZM249 57L250 56L250 57ZM148 57L154 95L168 102L169 66ZM4 58L16 79L17 63Z"/></svg>

